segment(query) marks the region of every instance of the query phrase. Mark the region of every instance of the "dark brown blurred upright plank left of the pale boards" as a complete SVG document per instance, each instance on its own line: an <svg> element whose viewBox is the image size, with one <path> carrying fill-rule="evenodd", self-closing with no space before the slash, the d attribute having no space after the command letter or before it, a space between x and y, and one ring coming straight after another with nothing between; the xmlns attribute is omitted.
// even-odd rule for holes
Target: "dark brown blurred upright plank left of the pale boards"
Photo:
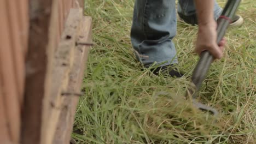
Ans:
<svg viewBox="0 0 256 144"><path fill-rule="evenodd" d="M30 36L21 127L21 143L25 144L40 142L51 5L52 0L30 0Z"/></svg>

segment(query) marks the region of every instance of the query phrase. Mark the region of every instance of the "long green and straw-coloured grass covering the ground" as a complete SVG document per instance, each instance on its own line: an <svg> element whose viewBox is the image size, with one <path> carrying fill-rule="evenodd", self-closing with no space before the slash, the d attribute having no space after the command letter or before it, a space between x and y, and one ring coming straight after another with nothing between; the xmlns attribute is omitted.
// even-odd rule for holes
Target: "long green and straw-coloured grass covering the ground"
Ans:
<svg viewBox="0 0 256 144"><path fill-rule="evenodd" d="M130 42L133 0L86 0L96 45L90 51L73 143L255 143L256 4L242 2L239 28L229 28L225 56L212 64L199 100L216 119L185 100L190 79L165 79L142 69ZM225 1L219 1L224 5ZM191 76L197 27L178 23L179 67ZM165 93L163 93L165 92Z"/></svg>

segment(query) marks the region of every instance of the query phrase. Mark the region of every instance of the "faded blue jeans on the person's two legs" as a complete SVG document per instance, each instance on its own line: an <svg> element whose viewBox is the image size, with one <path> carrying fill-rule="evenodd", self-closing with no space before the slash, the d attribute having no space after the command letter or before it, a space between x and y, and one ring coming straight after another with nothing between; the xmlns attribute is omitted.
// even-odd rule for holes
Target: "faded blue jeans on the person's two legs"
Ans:
<svg viewBox="0 0 256 144"><path fill-rule="evenodd" d="M168 65L178 63L175 46L176 35L175 0L136 0L131 28L131 42L136 57L144 67L153 63ZM179 0L178 14L187 23L196 23L193 0ZM215 2L214 17L222 8Z"/></svg>

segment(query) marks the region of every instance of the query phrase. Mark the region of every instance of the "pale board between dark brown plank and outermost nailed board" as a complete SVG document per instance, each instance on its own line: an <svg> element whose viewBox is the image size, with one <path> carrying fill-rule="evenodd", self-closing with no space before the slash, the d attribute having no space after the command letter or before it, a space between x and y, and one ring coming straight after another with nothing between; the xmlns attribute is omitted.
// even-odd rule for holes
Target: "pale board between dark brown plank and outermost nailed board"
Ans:
<svg viewBox="0 0 256 144"><path fill-rule="evenodd" d="M60 44L54 55L53 68L49 72L51 87L47 87L50 90L44 97L41 143L49 144L53 142L61 112L60 106L63 100L61 94L66 91L68 85L69 73L74 60L75 41L81 21L82 9L71 9L65 23Z"/></svg>

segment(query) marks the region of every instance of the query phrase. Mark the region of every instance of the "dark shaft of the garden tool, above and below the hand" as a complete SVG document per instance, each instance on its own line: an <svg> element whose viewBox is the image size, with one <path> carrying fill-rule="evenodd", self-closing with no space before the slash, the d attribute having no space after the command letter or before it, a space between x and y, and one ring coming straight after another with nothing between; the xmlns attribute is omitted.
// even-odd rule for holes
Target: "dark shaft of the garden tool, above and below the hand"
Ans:
<svg viewBox="0 0 256 144"><path fill-rule="evenodd" d="M225 8L222 12L222 16L220 16L219 19L217 20L217 43L219 43L219 41L223 39L226 29L229 26L230 20L235 15L240 2L241 0L229 0L226 3ZM211 66L213 59L214 58L209 51L203 51L201 53L201 57L193 71L192 76L192 81L196 86L196 91L193 94L193 98L197 97L197 91L201 87L202 81L203 79L205 79L205 76L207 74L208 69Z"/></svg>

